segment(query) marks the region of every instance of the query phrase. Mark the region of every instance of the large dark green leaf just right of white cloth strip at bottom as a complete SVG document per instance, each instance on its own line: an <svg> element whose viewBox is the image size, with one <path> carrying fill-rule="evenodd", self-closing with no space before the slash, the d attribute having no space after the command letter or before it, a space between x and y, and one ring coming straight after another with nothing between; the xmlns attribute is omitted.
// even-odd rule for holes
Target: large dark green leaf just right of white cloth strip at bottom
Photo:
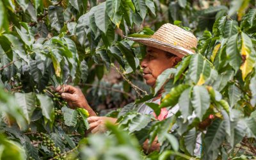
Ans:
<svg viewBox="0 0 256 160"><path fill-rule="evenodd" d="M214 150L218 149L225 139L225 124L223 120L216 119L207 128L205 134L205 154L210 156ZM218 154L218 153L217 153Z"/></svg>

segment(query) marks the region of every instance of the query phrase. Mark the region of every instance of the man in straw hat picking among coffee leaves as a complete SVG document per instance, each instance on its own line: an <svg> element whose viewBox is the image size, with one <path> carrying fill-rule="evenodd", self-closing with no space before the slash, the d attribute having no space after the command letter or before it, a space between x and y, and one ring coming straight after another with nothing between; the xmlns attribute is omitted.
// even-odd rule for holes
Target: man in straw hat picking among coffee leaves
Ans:
<svg viewBox="0 0 256 160"><path fill-rule="evenodd" d="M196 48L197 44L196 37L192 33L172 24L164 24L150 38L126 38L147 46L147 54L141 61L141 67L143 68L143 78L153 88L156 84L157 77L167 68L175 67L183 56L193 54L193 48ZM104 124L107 121L116 122L115 118L97 116L78 88L70 85L65 85L63 88L58 86L56 92L61 93L61 97L67 100L70 107L79 107L88 110L90 113L88 122L92 133L105 132L106 127ZM163 89L158 92L157 97L154 97L151 102L160 102L162 92ZM160 115L156 118L163 120L166 117L172 116L178 110L179 106L175 106L175 108L169 111L162 109ZM154 115L153 109L145 104L140 106L138 112Z"/></svg>

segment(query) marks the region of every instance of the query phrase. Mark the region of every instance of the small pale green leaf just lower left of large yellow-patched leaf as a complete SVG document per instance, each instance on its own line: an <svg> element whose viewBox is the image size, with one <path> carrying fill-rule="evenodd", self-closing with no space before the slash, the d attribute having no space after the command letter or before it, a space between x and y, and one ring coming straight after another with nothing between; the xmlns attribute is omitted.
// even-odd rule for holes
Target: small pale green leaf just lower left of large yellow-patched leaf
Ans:
<svg viewBox="0 0 256 160"><path fill-rule="evenodd" d="M232 84L228 87L228 100L231 108L241 99L241 95L241 90L236 84Z"/></svg>

